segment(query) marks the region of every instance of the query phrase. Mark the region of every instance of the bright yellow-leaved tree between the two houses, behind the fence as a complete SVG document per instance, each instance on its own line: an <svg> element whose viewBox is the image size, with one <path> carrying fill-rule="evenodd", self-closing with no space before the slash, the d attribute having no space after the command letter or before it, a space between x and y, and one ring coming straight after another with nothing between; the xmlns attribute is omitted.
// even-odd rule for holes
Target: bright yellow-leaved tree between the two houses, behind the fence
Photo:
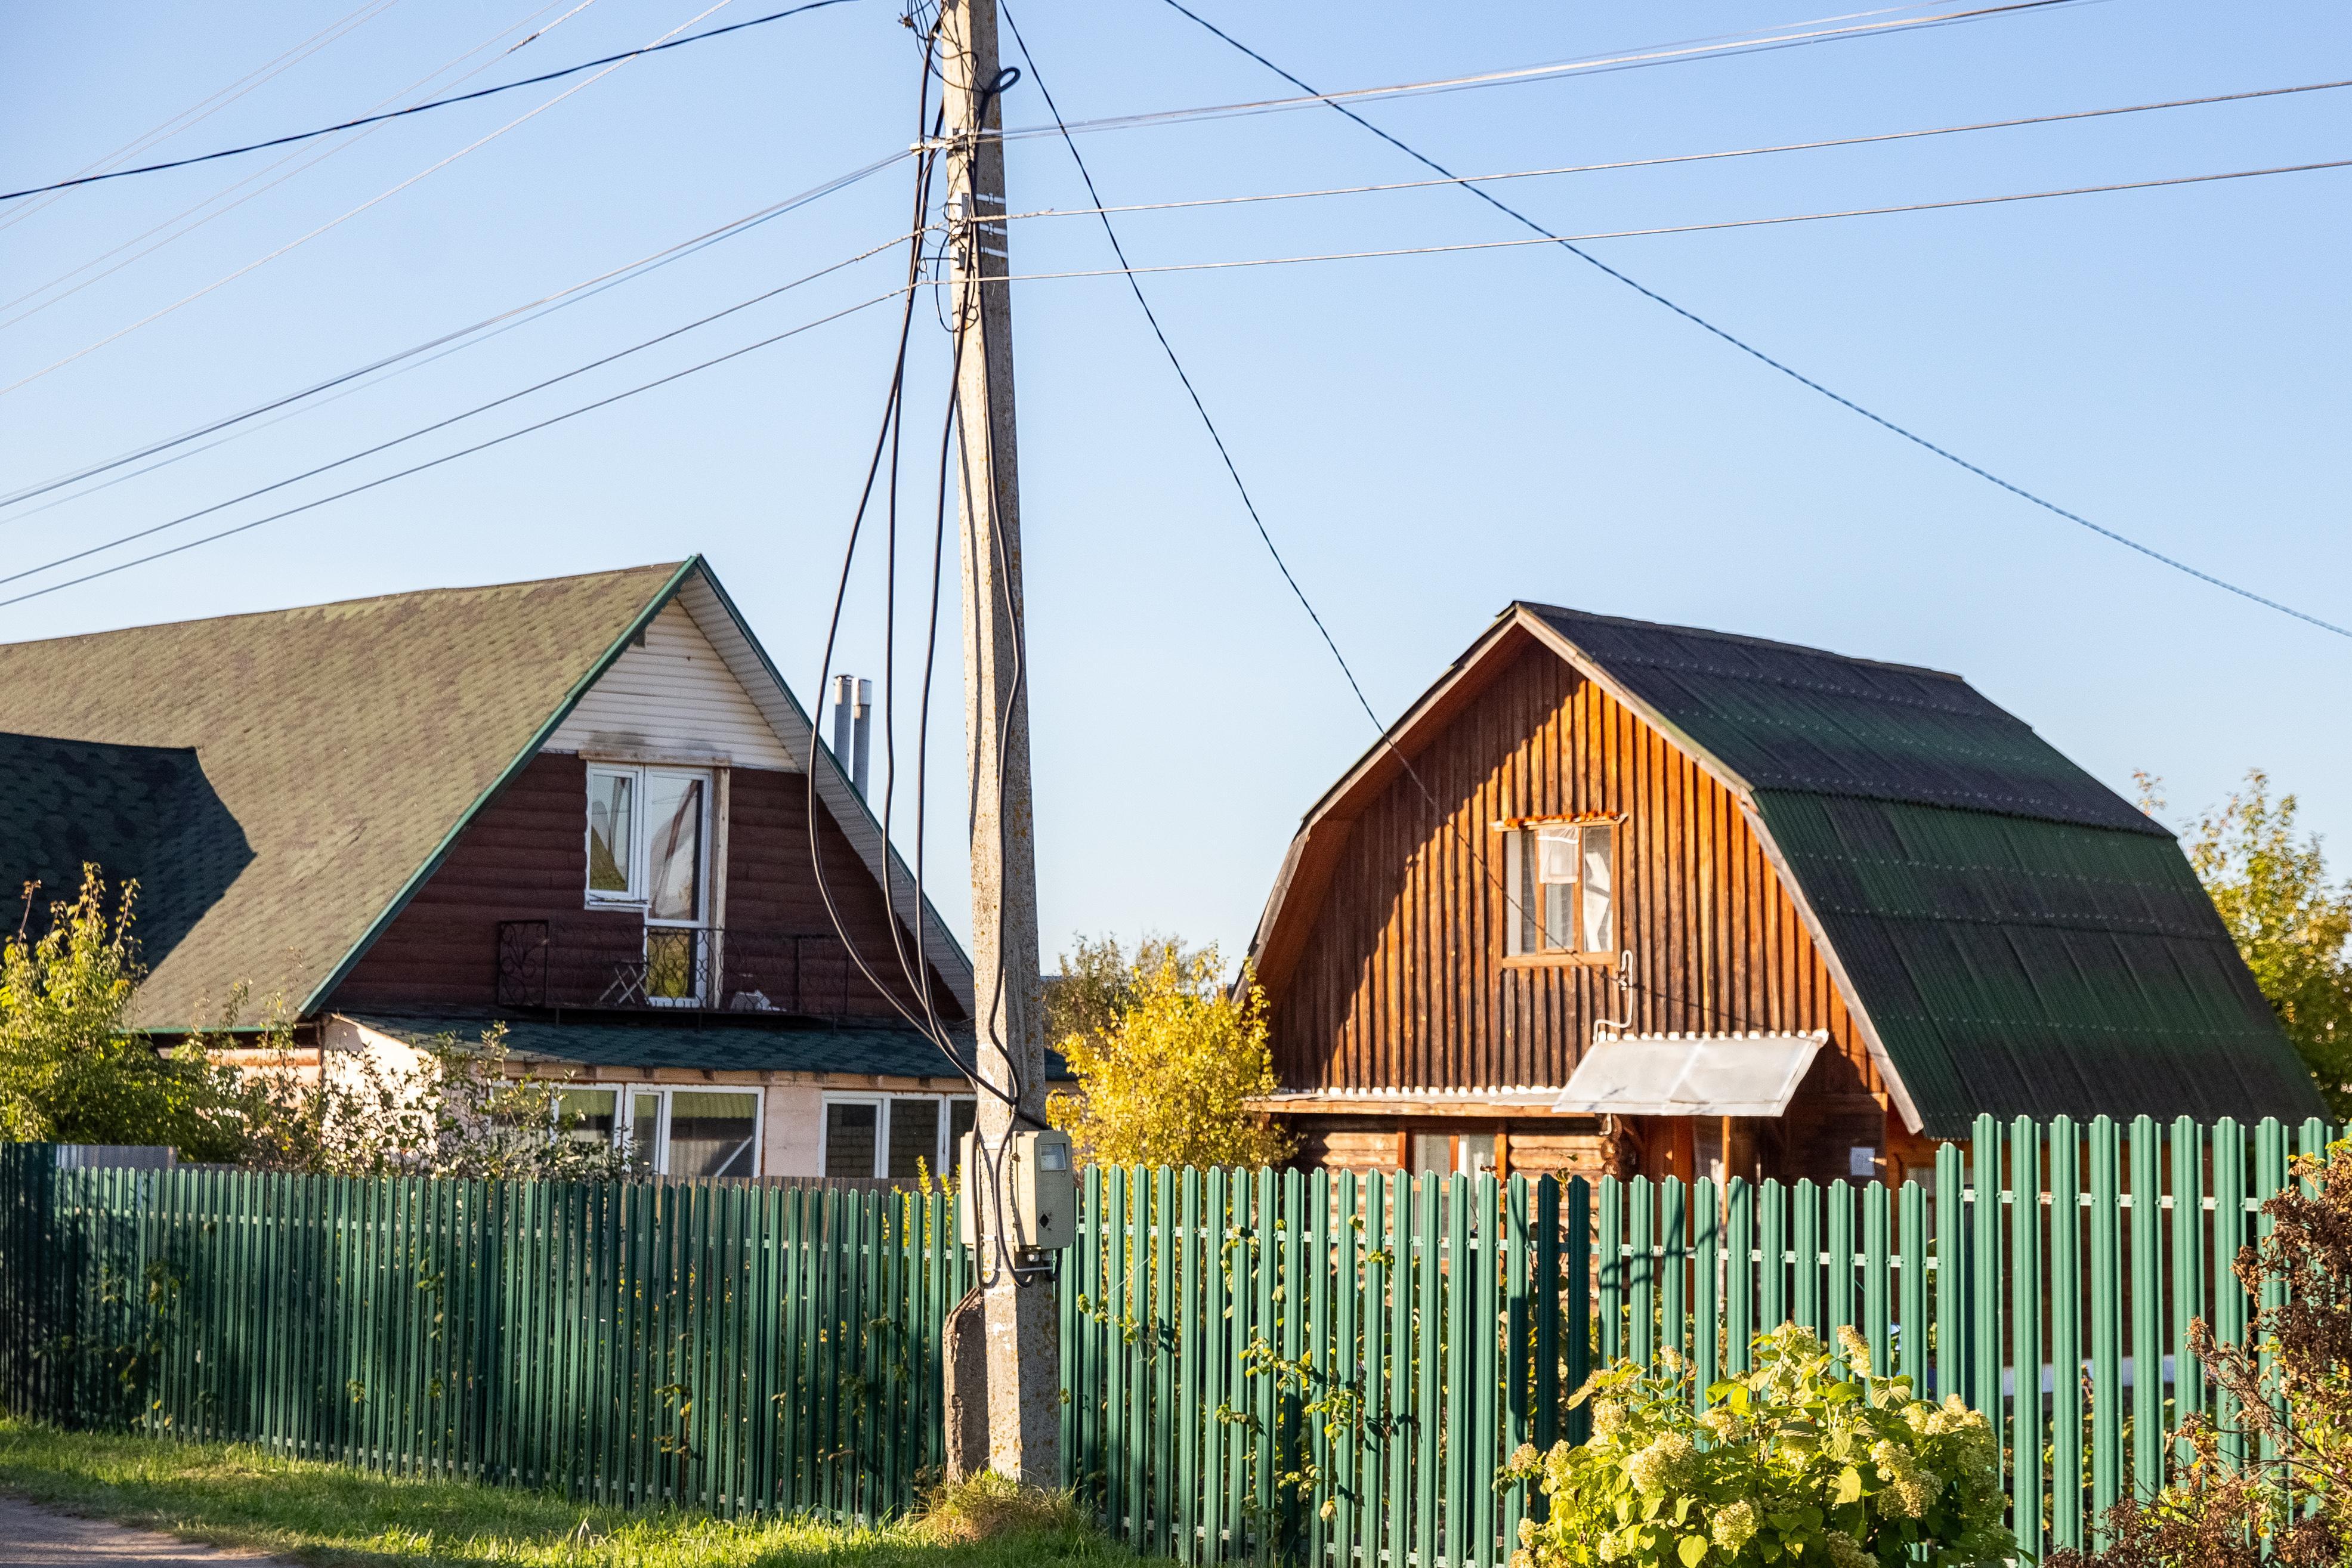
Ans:
<svg viewBox="0 0 2352 1568"><path fill-rule="evenodd" d="M1289 1159L1291 1140L1249 1110L1251 1098L1275 1091L1265 992L1247 973L1228 987L1214 943L1195 952L1145 943L1134 964L1117 969L1103 961L1105 947L1117 959L1115 943L1080 943L1087 961L1075 973L1087 978L1094 1006L1054 1009L1077 1025L1056 1046L1080 1086L1054 1095L1054 1126L1105 1166Z"/></svg>

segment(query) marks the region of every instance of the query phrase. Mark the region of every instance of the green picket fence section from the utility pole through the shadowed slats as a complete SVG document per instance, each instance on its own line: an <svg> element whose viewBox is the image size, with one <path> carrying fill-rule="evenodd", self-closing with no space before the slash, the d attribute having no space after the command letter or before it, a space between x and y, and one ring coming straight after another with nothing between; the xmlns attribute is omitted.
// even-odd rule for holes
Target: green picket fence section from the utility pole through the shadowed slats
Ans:
<svg viewBox="0 0 2352 1568"><path fill-rule="evenodd" d="M1494 1472L1569 1434L1585 1182L1096 1168L1080 1227L1063 1465L1115 1535L1178 1561L1517 1547Z"/></svg>

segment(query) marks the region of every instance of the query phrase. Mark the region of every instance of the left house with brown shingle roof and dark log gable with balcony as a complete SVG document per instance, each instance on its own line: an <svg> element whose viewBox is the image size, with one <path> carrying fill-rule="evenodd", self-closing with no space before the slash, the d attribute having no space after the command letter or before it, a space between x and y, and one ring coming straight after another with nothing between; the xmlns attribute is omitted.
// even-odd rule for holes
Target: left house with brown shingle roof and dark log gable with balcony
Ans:
<svg viewBox="0 0 2352 1568"><path fill-rule="evenodd" d="M0 884L139 882L155 1034L503 1023L670 1175L903 1178L969 1126L906 1011L969 1051L971 964L699 557L0 644Z"/></svg>

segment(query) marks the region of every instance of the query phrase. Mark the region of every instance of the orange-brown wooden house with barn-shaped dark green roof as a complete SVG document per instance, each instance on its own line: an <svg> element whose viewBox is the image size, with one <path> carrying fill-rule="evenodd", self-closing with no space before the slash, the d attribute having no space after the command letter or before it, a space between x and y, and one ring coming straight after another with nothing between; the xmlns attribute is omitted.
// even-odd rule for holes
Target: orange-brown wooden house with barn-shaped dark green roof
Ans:
<svg viewBox="0 0 2352 1568"><path fill-rule="evenodd" d="M1964 679L1512 604L1251 945L1308 1164L1896 1178L2319 1098L2171 832Z"/></svg>

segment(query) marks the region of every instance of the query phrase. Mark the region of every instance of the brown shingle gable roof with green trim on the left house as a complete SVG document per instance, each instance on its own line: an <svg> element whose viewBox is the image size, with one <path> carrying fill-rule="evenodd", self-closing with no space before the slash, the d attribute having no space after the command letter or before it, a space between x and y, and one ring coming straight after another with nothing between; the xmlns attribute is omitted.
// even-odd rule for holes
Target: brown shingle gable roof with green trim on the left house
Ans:
<svg viewBox="0 0 2352 1568"><path fill-rule="evenodd" d="M809 715L701 557L0 644L0 882L56 898L96 858L165 900L139 924L143 1027L207 1023L238 983L247 1020L273 997L306 1016L668 604L807 769ZM969 1004L971 959L908 907L823 743L816 790Z"/></svg>

